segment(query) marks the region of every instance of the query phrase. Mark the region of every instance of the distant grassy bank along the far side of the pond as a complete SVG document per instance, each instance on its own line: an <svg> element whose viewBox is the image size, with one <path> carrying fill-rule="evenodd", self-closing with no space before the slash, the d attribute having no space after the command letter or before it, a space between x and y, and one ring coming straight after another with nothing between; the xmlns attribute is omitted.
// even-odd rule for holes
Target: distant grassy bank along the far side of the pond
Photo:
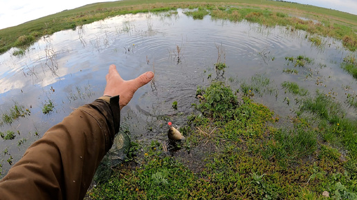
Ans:
<svg viewBox="0 0 357 200"><path fill-rule="evenodd" d="M225 6L234 6L228 8ZM238 6L238 7L237 7ZM246 19L267 26L290 26L293 29L341 39L350 50L357 48L357 16L336 10L282 1L143 1L126 0L93 3L73 10L64 10L19 26L0 30L0 53L12 47L26 49L47 34L73 29L93 21L120 14L158 12L176 8L201 8L214 18L240 21ZM207 12L209 10L210 12ZM196 14L196 13L195 13ZM202 16L202 13L199 13ZM203 15L204 16L204 15ZM304 21L298 17L320 21ZM200 18L200 17L199 17ZM17 51L18 53L19 51ZM21 50L20 50L21 52Z"/></svg>

